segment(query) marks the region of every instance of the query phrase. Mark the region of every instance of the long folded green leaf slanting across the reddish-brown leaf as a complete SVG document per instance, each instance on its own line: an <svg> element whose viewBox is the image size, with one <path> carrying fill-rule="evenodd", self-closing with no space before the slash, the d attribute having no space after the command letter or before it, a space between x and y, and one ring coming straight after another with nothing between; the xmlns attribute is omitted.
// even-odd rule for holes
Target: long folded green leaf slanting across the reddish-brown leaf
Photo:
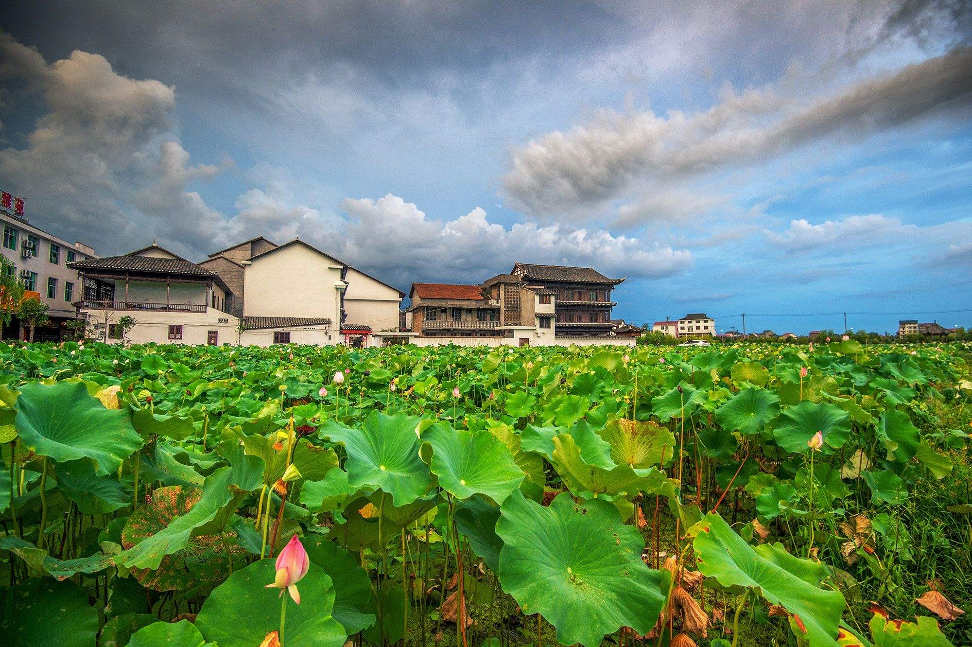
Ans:
<svg viewBox="0 0 972 647"><path fill-rule="evenodd" d="M201 495L185 514L177 514L166 526L133 544L121 554L121 562L132 568L157 569L166 555L186 548L193 532L213 522L226 506L239 499L240 493L249 493L260 487L261 470L261 461L259 467L257 463L249 462L240 466L220 467L206 478ZM177 494L171 491L170 495ZM182 509L182 506L176 505L176 508ZM125 528L132 528L129 536L137 535L136 529L146 523L147 520L140 522L135 517L143 509L139 508L128 519Z"/></svg>

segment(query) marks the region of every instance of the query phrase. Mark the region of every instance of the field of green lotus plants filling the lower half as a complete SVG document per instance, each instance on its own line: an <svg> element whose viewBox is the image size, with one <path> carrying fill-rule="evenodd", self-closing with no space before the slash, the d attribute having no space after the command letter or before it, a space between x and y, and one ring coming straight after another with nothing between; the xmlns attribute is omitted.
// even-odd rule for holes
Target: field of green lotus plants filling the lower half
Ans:
<svg viewBox="0 0 972 647"><path fill-rule="evenodd" d="M970 358L0 343L0 636L970 644Z"/></svg>

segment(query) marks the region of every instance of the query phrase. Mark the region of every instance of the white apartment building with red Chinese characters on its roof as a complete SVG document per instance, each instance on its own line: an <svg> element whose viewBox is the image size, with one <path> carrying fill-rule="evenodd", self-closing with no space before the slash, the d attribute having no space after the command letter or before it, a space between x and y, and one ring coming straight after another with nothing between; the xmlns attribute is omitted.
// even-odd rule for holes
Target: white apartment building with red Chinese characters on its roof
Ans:
<svg viewBox="0 0 972 647"><path fill-rule="evenodd" d="M80 298L81 285L77 273L68 263L96 257L94 250L83 243L69 243L31 224L14 207L16 198L4 192L0 199L0 254L13 265L12 270L24 289L37 292L47 304L50 323L34 331L35 341L60 341L66 333L65 324L78 318L72 305ZM4 206L10 202L11 206ZM18 203L22 204L22 203ZM21 337L18 321L12 321L3 331L5 338Z"/></svg>

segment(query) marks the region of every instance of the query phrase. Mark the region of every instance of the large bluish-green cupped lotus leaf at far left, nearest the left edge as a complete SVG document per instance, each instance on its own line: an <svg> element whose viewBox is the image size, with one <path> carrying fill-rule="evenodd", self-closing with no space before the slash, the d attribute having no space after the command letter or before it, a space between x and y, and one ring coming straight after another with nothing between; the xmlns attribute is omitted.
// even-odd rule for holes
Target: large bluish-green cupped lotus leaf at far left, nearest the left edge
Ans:
<svg viewBox="0 0 972 647"><path fill-rule="evenodd" d="M83 382L25 384L17 397L17 431L24 445L57 462L90 459L104 476L142 444L124 410L106 409Z"/></svg>

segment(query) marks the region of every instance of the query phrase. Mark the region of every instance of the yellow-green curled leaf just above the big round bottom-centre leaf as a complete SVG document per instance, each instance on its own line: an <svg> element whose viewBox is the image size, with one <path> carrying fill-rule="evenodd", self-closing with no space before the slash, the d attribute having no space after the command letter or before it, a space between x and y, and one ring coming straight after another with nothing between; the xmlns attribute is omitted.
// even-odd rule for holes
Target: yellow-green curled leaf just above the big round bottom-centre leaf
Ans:
<svg viewBox="0 0 972 647"><path fill-rule="evenodd" d="M665 475L653 468L636 470L622 464L604 469L589 465L581 458L573 436L566 433L554 436L553 444L551 464L564 484L578 496L594 498L598 494L653 492L665 481Z"/></svg>

